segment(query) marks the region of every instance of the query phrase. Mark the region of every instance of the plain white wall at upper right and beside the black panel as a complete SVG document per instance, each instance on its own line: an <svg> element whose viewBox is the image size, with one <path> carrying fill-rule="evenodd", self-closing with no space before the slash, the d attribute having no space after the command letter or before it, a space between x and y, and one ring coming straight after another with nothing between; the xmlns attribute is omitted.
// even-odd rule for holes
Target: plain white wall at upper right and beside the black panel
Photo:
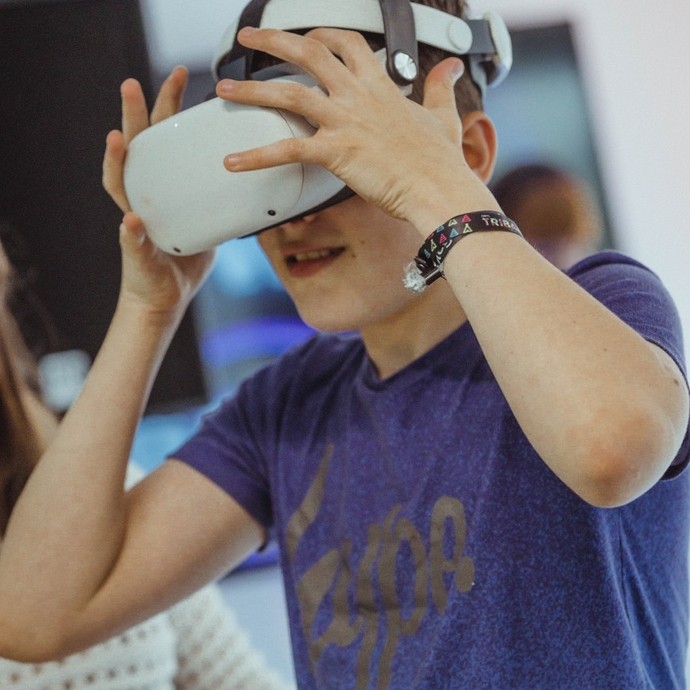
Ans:
<svg viewBox="0 0 690 690"><path fill-rule="evenodd" d="M690 341L690 2L470 1L514 27L573 26L617 243L661 275ZM142 0L155 68L206 68L243 5Z"/></svg>

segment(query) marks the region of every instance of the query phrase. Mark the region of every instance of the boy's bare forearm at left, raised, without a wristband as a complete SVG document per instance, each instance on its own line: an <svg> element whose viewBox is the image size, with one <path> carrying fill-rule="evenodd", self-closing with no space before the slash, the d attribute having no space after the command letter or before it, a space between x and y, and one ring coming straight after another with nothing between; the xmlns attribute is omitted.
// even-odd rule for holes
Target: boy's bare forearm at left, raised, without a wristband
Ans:
<svg viewBox="0 0 690 690"><path fill-rule="evenodd" d="M0 551L0 656L52 656L117 561L132 438L176 327L120 305Z"/></svg>

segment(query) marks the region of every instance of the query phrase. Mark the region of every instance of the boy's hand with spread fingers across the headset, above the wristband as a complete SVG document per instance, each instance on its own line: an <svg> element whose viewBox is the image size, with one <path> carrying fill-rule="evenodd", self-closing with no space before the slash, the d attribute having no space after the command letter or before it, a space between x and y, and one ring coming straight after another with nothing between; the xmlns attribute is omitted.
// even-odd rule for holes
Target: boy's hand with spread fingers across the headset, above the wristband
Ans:
<svg viewBox="0 0 690 690"><path fill-rule="evenodd" d="M229 152L228 170L316 163L368 202L412 222L420 204L443 195L444 186L457 188L459 175L469 171L453 89L464 71L459 58L444 60L429 72L420 106L402 95L356 32L315 29L299 36L246 28L238 39L298 65L325 92L270 80L219 82L221 98L289 110L318 125L311 137Z"/></svg>

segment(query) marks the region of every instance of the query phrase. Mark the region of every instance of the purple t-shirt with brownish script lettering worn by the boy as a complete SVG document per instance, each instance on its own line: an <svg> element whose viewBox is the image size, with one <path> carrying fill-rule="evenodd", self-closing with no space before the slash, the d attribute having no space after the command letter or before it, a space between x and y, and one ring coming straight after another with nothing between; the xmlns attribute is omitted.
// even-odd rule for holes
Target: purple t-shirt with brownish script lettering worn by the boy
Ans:
<svg viewBox="0 0 690 690"><path fill-rule="evenodd" d="M572 277L683 367L658 278L605 252ZM688 444L594 508L540 460L466 323L379 381L319 335L174 456L271 529L300 688L685 687Z"/></svg>

